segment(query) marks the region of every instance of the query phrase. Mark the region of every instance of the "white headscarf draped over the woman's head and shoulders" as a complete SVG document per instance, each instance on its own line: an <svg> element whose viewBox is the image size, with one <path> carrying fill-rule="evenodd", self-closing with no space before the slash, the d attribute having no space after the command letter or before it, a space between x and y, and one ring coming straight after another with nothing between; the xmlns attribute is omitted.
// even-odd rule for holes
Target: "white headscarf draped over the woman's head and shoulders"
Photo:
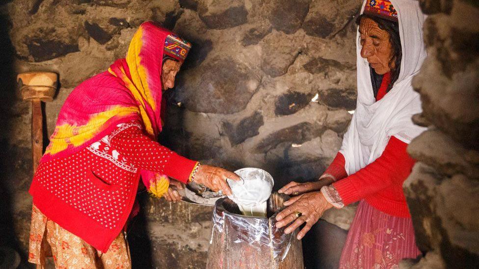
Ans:
<svg viewBox="0 0 479 269"><path fill-rule="evenodd" d="M364 11L364 5L361 14ZM379 101L375 101L368 61L361 57L359 32L356 38L357 87L356 111L346 131L340 152L346 159L345 169L352 174L381 156L389 138L395 136L405 143L426 128L411 121L422 111L419 94L411 86L412 77L419 71L426 50L423 42L423 23L426 15L416 0L391 0L398 12L402 59L398 80Z"/></svg>

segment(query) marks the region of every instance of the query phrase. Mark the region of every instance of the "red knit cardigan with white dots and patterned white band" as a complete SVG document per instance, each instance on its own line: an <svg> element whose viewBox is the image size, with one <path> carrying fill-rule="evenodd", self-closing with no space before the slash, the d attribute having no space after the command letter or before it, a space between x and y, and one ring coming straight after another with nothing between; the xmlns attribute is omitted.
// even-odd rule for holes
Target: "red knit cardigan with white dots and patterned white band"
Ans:
<svg viewBox="0 0 479 269"><path fill-rule="evenodd" d="M132 210L141 169L186 182L196 162L142 134L136 122L65 158L43 162L29 193L49 219L106 252Z"/></svg>

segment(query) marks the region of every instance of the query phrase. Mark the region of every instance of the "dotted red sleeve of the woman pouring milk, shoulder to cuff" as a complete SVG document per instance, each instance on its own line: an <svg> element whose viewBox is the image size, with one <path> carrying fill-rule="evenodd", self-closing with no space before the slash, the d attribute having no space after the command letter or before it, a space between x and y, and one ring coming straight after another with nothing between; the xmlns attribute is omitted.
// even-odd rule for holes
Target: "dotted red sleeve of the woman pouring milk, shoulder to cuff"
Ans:
<svg viewBox="0 0 479 269"><path fill-rule="evenodd" d="M139 168L166 174L183 183L188 181L197 163L151 140L136 126L113 136L110 144Z"/></svg>

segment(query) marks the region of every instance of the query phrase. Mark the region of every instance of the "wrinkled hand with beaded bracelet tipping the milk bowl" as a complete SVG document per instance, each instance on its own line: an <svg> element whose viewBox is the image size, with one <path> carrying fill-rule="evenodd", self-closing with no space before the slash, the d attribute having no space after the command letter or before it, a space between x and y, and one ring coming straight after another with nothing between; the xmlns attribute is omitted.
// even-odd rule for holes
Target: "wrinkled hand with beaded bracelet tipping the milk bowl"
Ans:
<svg viewBox="0 0 479 269"><path fill-rule="evenodd" d="M224 170L219 167L210 165L200 165L196 171L194 181L203 184L212 189L214 192L222 191L225 195L231 195L230 186L226 183L226 179L240 180L239 176L234 172Z"/></svg>

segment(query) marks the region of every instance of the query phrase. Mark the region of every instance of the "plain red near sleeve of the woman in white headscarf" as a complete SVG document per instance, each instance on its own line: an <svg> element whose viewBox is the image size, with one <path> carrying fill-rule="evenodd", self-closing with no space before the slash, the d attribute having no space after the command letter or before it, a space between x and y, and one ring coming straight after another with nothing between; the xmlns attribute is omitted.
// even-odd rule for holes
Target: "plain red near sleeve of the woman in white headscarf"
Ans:
<svg viewBox="0 0 479 269"><path fill-rule="evenodd" d="M402 185L415 162L407 154L406 147L406 143L393 136L375 161L333 183L343 203L347 205L359 201L393 184Z"/></svg>

